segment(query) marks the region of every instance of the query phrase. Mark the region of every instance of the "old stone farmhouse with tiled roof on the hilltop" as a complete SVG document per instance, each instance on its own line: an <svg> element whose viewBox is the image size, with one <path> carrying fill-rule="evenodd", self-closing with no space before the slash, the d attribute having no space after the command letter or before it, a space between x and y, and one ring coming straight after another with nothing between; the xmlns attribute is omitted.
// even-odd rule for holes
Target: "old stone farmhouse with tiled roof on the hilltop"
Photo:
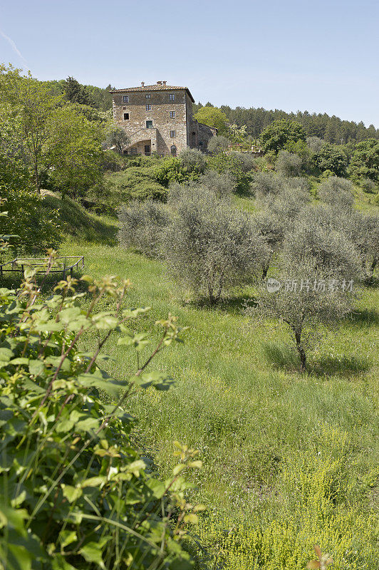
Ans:
<svg viewBox="0 0 379 570"><path fill-rule="evenodd" d="M125 154L173 155L185 148L207 150L217 129L192 118L192 97L187 87L141 83L140 87L115 89L113 120L130 140Z"/></svg>

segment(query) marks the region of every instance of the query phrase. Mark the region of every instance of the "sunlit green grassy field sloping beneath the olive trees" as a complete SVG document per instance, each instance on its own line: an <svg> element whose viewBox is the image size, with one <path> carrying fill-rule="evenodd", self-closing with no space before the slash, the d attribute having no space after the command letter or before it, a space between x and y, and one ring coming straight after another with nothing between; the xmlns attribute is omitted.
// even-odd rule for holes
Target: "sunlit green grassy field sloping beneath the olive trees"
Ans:
<svg viewBox="0 0 379 570"><path fill-rule="evenodd" d="M152 306L141 328L169 312L189 327L185 343L155 362L175 387L136 391L129 405L139 418L135 437L162 476L175 462L173 440L200 450L196 499L208 510L195 531L204 547L196 549L199 568L303 569L314 543L335 569L377 568L378 288L365 289L353 316L323 331L300 375L288 331L243 314L254 289L217 308L199 304L164 264L118 247L112 222L91 219L102 243L79 231L62 253L84 254L93 276L131 279L130 305ZM106 350L116 376L133 371L127 348Z"/></svg>

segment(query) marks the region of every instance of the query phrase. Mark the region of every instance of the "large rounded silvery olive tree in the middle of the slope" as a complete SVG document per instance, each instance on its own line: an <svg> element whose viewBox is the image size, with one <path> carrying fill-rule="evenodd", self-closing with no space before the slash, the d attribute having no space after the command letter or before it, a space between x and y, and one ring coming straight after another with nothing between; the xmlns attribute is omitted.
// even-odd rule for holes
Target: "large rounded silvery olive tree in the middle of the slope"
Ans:
<svg viewBox="0 0 379 570"><path fill-rule="evenodd" d="M162 251L170 273L210 303L249 282L267 254L251 217L205 189L177 197Z"/></svg>

